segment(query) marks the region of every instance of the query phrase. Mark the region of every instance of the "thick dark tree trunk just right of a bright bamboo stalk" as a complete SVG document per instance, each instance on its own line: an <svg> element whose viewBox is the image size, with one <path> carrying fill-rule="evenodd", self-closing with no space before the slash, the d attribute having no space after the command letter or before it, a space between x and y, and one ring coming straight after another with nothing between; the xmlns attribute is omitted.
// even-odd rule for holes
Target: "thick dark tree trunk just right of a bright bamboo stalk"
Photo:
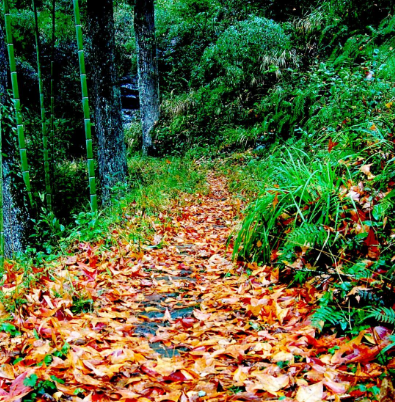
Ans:
<svg viewBox="0 0 395 402"><path fill-rule="evenodd" d="M115 64L112 0L88 0L88 62L92 77L92 103L98 142L99 177L103 204L110 189L127 173L122 127L121 92Z"/></svg>

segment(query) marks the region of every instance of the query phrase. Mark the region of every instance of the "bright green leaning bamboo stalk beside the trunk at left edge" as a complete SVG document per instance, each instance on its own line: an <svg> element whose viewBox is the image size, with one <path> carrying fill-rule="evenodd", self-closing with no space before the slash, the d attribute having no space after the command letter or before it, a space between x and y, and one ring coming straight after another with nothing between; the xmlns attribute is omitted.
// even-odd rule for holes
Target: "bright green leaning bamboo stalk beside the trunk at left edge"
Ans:
<svg viewBox="0 0 395 402"><path fill-rule="evenodd" d="M25 182L27 194L30 200L30 204L33 205L32 189L30 185L30 172L29 165L27 163L27 151L26 151L26 141L25 141L25 130L22 120L22 110L21 110L21 100L19 98L19 87L18 87L18 77L16 73L16 63L14 55L14 44L12 39L12 25L11 25L11 14L8 0L3 0L4 5L4 20L5 20L5 30L6 30L6 42L8 50L8 59L10 63L11 72L11 85L13 94L13 103L15 107L15 117L17 124L17 135L18 135L18 147L19 155L21 158L22 166L22 177Z"/></svg>

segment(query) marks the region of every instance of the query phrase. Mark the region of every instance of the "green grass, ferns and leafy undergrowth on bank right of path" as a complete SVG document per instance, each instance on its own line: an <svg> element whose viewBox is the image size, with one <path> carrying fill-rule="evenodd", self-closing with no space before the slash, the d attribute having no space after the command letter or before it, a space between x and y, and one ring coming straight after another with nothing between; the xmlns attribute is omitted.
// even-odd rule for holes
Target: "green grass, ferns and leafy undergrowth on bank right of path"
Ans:
<svg viewBox="0 0 395 402"><path fill-rule="evenodd" d="M391 24L388 18L380 33L350 39L344 53L295 73L290 86L275 86L254 113L265 116L262 131L276 140L263 152L228 157L221 168L248 203L234 257L279 267L285 283L320 289L312 317L320 330L395 325ZM289 139L279 139L284 129Z"/></svg>

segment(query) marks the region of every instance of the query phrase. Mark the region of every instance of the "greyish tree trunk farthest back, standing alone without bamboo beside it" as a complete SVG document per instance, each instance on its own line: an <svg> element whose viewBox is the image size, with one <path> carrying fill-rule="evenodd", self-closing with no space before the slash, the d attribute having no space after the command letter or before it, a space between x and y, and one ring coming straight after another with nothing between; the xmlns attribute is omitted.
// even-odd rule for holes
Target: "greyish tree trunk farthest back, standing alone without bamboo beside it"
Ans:
<svg viewBox="0 0 395 402"><path fill-rule="evenodd" d="M152 129L159 120L159 73L156 57L154 0L137 0L134 31L138 49L138 73L143 153L153 152Z"/></svg>

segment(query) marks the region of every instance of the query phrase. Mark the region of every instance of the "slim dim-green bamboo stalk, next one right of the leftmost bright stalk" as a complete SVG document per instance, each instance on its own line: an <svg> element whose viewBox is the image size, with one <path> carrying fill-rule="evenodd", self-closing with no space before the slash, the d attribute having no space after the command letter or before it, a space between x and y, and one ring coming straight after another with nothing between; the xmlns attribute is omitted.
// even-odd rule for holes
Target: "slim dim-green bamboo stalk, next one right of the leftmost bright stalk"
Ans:
<svg viewBox="0 0 395 402"><path fill-rule="evenodd" d="M35 25L34 36L36 39L36 53L37 53L38 88L40 92L42 141L43 141L43 153L44 153L45 199L47 201L48 210L52 211L52 189L51 189L51 176L49 169L47 120L45 116L44 85L43 85L43 78L41 73L41 61L40 61L40 33L38 30L38 14L35 0L33 0L33 12L34 12L34 25Z"/></svg>

